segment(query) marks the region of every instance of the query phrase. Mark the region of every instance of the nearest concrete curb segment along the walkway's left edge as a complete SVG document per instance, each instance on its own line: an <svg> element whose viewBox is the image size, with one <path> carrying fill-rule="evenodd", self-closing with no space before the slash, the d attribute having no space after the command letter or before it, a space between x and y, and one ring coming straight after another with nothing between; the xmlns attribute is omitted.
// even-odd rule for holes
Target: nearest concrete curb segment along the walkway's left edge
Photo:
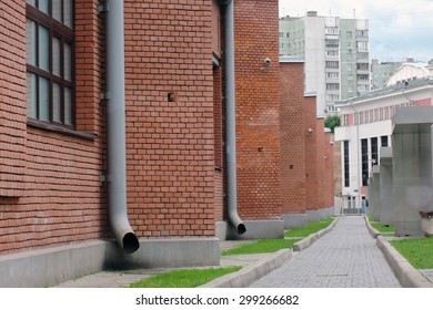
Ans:
<svg viewBox="0 0 433 310"><path fill-rule="evenodd" d="M279 250L275 256L266 261L259 261L242 268L238 272L226 275L208 282L200 288L245 288L255 280L266 276L272 270L281 267L293 257L292 249Z"/></svg>

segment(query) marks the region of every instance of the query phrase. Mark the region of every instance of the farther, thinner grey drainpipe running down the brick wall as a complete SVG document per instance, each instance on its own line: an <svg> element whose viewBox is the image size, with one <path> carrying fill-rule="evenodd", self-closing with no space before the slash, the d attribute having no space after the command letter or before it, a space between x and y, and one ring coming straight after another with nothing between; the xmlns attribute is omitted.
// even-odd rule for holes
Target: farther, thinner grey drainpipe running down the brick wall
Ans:
<svg viewBox="0 0 433 310"><path fill-rule="evenodd" d="M225 38L225 143L226 143L226 183L228 183L228 216L236 234L246 231L245 225L238 215L236 188L236 124L234 94L234 18L233 0L220 1L225 4L224 38Z"/></svg>

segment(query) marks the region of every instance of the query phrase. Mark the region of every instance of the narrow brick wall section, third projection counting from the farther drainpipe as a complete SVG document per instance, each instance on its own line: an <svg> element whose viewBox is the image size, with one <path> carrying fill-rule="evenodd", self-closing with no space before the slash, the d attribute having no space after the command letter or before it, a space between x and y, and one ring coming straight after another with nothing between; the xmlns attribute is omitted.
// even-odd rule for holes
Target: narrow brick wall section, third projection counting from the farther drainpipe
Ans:
<svg viewBox="0 0 433 310"><path fill-rule="evenodd" d="M309 131L311 130L311 133ZM306 209L318 209L318 121L315 96L305 97Z"/></svg>

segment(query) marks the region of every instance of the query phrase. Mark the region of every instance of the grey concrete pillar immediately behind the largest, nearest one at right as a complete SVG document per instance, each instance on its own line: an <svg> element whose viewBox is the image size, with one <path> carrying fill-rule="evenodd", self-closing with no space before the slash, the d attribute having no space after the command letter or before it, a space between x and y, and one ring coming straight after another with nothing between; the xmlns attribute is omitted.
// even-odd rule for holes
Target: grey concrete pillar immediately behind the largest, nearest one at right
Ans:
<svg viewBox="0 0 433 310"><path fill-rule="evenodd" d="M392 225L395 223L393 184L392 147L382 147L380 177L380 220L383 225Z"/></svg>

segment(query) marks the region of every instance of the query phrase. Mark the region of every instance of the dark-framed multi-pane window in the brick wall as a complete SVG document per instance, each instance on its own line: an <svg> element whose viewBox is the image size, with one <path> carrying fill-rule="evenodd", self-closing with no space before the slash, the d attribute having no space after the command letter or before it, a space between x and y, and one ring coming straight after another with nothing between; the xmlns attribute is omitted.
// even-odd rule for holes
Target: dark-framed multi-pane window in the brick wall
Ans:
<svg viewBox="0 0 433 310"><path fill-rule="evenodd" d="M27 0L27 115L73 127L73 1Z"/></svg>

